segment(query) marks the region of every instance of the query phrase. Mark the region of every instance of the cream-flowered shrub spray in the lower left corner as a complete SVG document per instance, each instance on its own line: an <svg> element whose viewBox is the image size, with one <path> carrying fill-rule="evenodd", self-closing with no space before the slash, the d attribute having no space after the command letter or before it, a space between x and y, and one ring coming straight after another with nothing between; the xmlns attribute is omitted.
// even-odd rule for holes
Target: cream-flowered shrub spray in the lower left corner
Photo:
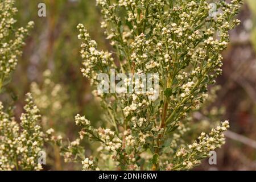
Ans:
<svg viewBox="0 0 256 182"><path fill-rule="evenodd" d="M20 125L10 114L3 111L0 102L0 170L40 170L39 152L46 140L41 127L39 109L31 94L27 94L26 113L20 117Z"/></svg>

